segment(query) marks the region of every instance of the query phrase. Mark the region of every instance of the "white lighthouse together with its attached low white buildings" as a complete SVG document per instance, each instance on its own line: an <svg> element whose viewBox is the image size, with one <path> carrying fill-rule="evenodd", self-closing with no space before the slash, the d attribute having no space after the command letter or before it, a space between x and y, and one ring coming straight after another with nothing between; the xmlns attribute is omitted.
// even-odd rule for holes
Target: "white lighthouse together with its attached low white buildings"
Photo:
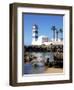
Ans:
<svg viewBox="0 0 74 90"><path fill-rule="evenodd" d="M63 41L58 39L58 41L55 39L49 40L49 38L45 35L38 36L38 26L34 24L32 26L32 45L50 45L50 44L56 44L56 45L63 45Z"/></svg>

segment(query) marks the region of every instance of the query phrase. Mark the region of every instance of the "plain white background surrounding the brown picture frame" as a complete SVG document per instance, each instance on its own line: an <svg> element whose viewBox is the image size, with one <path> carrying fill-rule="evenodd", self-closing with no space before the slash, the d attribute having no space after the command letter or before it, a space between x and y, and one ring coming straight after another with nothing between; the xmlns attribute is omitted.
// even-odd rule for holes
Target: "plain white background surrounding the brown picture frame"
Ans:
<svg viewBox="0 0 74 90"><path fill-rule="evenodd" d="M74 11L74 0L0 0L0 90L73 90L74 79L72 84L59 85L42 85L11 87L9 86L9 3L12 2L31 2L57 5L72 5ZM73 13L74 16L74 13ZM74 18L73 18L74 22ZM73 36L74 37L74 36ZM74 62L73 62L74 64ZM74 68L74 66L73 66ZM74 75L74 73L73 73Z"/></svg>

